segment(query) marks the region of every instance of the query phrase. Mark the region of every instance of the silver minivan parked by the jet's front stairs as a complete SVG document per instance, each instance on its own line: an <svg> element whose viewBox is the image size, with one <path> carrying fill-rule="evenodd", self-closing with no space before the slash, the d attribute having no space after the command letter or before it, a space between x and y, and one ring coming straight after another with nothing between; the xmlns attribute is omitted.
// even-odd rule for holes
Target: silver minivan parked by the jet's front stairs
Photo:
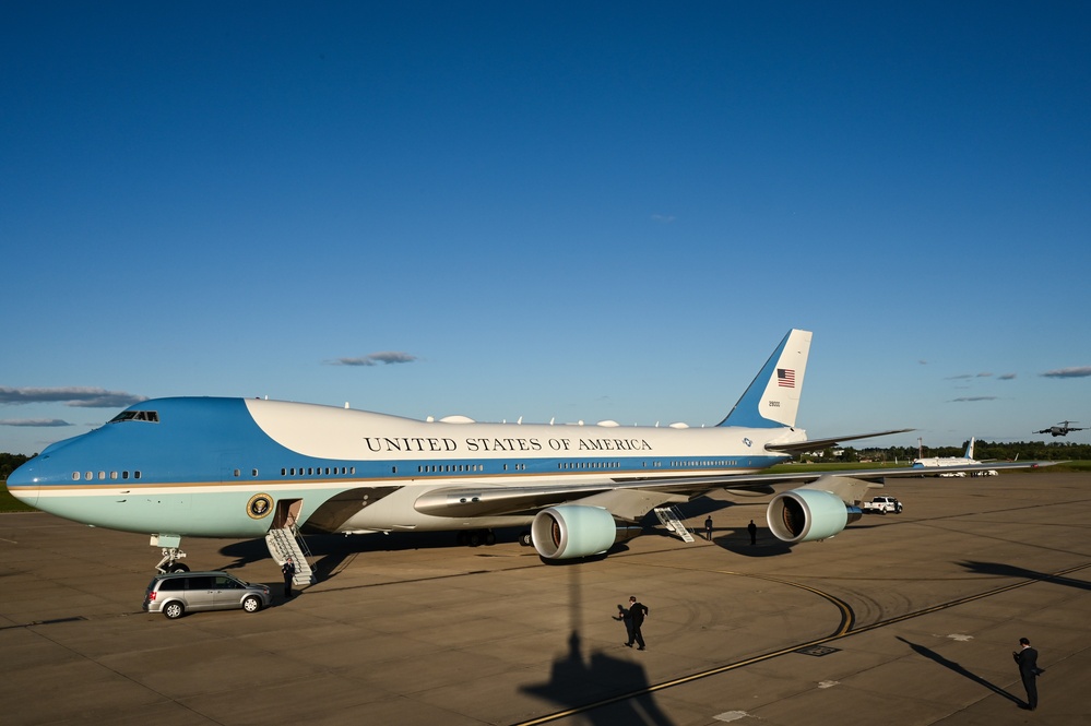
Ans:
<svg viewBox="0 0 1091 726"><path fill-rule="evenodd" d="M250 584L226 572L168 572L147 583L143 609L168 618L180 618L188 610L257 612L270 599L268 585Z"/></svg>

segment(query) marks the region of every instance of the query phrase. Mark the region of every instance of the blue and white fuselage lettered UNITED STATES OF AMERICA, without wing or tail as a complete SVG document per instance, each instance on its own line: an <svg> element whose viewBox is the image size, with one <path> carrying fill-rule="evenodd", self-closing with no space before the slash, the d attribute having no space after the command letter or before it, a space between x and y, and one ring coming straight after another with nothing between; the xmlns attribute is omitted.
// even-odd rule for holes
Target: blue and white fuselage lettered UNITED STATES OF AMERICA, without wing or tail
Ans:
<svg viewBox="0 0 1091 726"><path fill-rule="evenodd" d="M337 532L512 526L523 514L459 517L424 493L752 473L786 460L783 429L418 421L313 404L159 398L59 442L9 480L32 507L95 526L209 537L263 535L278 500L300 523L361 490ZM797 432L801 433L802 432ZM260 511L250 502L265 495ZM364 495L369 495L363 499ZM325 528L325 527L320 527Z"/></svg>

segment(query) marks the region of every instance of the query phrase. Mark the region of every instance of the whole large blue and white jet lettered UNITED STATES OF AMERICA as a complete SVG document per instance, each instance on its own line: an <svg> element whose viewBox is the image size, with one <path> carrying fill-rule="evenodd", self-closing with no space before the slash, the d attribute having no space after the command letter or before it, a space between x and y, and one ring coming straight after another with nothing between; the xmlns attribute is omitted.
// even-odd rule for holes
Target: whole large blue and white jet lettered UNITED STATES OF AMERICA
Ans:
<svg viewBox="0 0 1091 726"><path fill-rule="evenodd" d="M810 340L790 331L714 427L420 421L283 401L159 398L48 447L8 489L69 520L151 535L163 571L187 569L182 537L265 537L282 562L298 551L297 533L458 531L479 543L520 527L545 560L584 558L639 533L653 509L719 488L772 495L774 484L802 486L770 501L772 534L823 539L859 517L878 480L920 469L758 473L794 453L910 430L808 440L795 424Z"/></svg>

